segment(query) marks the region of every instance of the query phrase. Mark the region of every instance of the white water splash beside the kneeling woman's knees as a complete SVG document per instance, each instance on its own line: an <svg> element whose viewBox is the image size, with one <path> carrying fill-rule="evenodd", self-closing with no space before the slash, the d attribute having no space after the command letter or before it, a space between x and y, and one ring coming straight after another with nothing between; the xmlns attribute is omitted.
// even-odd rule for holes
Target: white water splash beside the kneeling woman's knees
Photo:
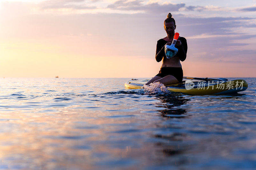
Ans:
<svg viewBox="0 0 256 170"><path fill-rule="evenodd" d="M168 90L165 87L165 85L160 82L150 83L149 85L143 85L141 88L144 89L144 92L148 94L162 93L162 92L168 93Z"/></svg>

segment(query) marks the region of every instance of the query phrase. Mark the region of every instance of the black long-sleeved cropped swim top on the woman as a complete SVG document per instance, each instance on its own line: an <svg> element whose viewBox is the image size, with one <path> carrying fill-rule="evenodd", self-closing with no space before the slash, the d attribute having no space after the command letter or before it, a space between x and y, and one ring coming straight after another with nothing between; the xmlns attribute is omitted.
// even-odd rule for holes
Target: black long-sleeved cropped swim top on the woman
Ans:
<svg viewBox="0 0 256 170"><path fill-rule="evenodd" d="M184 61L187 57L187 51L188 51L188 44L187 44L187 40L184 37L179 37L178 40L180 40L181 45L180 46L176 46L175 48L178 48L178 52L175 55L175 57L179 57L180 61ZM164 53L164 45L170 41L165 41L164 39L160 39L157 41L156 44L156 55L161 55L161 56L165 56Z"/></svg>

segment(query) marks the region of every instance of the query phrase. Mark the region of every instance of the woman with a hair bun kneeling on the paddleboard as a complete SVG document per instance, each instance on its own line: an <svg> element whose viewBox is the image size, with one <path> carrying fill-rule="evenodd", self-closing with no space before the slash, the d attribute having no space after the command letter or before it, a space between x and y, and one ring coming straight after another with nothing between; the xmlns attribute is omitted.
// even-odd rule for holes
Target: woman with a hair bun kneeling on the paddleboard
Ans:
<svg viewBox="0 0 256 170"><path fill-rule="evenodd" d="M172 14L169 13L167 18L164 20L164 30L167 33L167 37L158 40L156 44L156 61L160 62L163 59L163 64L159 73L149 80L146 85L153 82L160 82L164 85L170 85L182 81L183 70L180 61L184 61L186 59L188 51L187 40L184 37L178 38L175 44L175 48L178 48L178 52L173 57L167 58L164 52L165 45L172 44L175 29L175 20L172 18Z"/></svg>

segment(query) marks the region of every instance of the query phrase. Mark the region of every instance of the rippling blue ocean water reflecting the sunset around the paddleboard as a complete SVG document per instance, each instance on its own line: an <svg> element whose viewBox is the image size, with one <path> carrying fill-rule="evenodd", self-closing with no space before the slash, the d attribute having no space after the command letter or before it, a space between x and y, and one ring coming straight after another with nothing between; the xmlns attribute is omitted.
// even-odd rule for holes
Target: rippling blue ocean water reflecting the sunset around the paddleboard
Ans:
<svg viewBox="0 0 256 170"><path fill-rule="evenodd" d="M256 169L256 78L242 79L238 94L189 96L1 78L0 169Z"/></svg>

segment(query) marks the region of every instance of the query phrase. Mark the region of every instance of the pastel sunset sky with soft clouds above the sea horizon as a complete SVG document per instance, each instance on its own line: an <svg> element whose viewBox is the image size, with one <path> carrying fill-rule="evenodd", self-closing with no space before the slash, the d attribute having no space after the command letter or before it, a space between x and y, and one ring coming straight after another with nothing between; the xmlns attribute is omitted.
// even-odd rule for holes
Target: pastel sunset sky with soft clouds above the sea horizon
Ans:
<svg viewBox="0 0 256 170"><path fill-rule="evenodd" d="M184 76L256 77L256 0L1 0L0 77L154 77L169 12Z"/></svg>

